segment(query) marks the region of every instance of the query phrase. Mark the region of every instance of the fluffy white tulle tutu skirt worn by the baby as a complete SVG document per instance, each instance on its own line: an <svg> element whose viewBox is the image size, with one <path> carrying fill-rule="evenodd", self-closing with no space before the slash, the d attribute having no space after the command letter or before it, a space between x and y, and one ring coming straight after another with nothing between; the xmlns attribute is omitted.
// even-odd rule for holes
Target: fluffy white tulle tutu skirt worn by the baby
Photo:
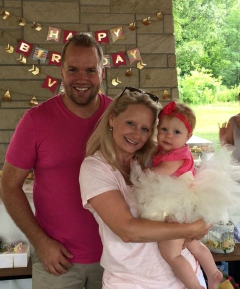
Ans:
<svg viewBox="0 0 240 289"><path fill-rule="evenodd" d="M202 162L193 177L186 172L178 177L141 170L137 161L131 167L133 193L142 218L191 222L202 217L206 222L227 222L240 208L240 165L221 149Z"/></svg>

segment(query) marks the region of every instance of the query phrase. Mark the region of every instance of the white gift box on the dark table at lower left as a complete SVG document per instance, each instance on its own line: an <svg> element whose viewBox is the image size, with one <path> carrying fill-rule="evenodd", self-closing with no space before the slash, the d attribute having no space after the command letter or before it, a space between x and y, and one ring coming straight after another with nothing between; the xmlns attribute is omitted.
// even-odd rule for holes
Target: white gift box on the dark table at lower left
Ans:
<svg viewBox="0 0 240 289"><path fill-rule="evenodd" d="M29 244L23 244L21 249L0 254L0 268L26 267L30 256Z"/></svg>

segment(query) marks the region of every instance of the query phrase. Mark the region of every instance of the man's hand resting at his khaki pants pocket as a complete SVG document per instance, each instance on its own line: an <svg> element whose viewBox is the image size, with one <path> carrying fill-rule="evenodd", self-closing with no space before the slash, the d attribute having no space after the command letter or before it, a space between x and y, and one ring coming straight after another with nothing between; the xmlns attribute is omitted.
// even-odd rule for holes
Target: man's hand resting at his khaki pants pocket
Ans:
<svg viewBox="0 0 240 289"><path fill-rule="evenodd" d="M72 258L73 255L61 243L50 237L44 242L41 240L36 251L48 273L59 276L72 266L66 258Z"/></svg>

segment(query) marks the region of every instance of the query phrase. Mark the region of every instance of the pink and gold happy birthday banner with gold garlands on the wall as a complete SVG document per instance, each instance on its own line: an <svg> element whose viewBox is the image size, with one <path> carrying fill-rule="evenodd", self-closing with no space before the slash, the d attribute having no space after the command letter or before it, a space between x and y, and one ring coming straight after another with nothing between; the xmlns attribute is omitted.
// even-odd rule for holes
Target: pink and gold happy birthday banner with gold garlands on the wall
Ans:
<svg viewBox="0 0 240 289"><path fill-rule="evenodd" d="M12 16L12 14L10 14L8 11L5 11L5 10L1 10L0 14L3 15L2 18L4 20L6 20L10 16ZM21 26L24 26L26 23L32 23L31 28L34 28L36 31L40 31L42 29L42 25L40 23L27 21L25 18L22 18L19 16L17 18L18 18L19 25L21 25ZM162 20L162 18L163 18L162 12L158 12L156 14L156 18L158 20ZM149 25L150 23L151 23L150 16L142 19L143 25ZM128 28L130 30L135 30L138 27L136 26L136 22L132 22L132 23L128 24ZM84 33L84 34L88 34L91 37L94 37L95 40L99 44L109 44L108 31L109 31L109 34L111 36L112 43L114 43L118 39L124 39L125 38L122 26L115 27L115 28L112 28L109 30L99 30L99 31L94 31L94 32L79 32L79 31L72 31L72 30L61 30L61 29L58 29L55 27L48 27L46 40L47 41L54 40L57 43L59 43L61 36L63 35L62 42L65 43L74 34ZM93 34L94 34L94 36L93 36ZM10 45L9 43L8 43L7 47L5 47L4 49L7 53L13 53L14 52L14 47L12 45ZM61 53L56 52L56 51L49 51L49 50L44 49L42 47L35 46L34 44L29 43L29 42L25 41L24 39L21 39L18 42L18 45L15 49L15 52L19 53L19 58L17 58L16 60L19 61L19 63L21 63L21 64L26 64L27 58L29 57L29 55L31 54L32 51L33 51L32 59L39 60L40 63L43 63L43 64L46 63L46 60L48 57L48 65L57 65L57 66L61 65ZM127 59L128 59L130 64L132 64L134 61L138 60L139 62L137 62L137 65L136 65L136 67L138 69L142 69L143 67L146 66L146 64L143 63L143 61L142 61L138 47L127 50L126 52L116 52L116 53L112 53L112 54L103 55L103 66L104 67L111 68L110 59L111 59L113 67L118 67L119 65L126 66L127 65ZM28 71L30 71L33 75L39 74L39 68L34 64L32 65L32 68L28 69ZM131 68L129 68L125 71L125 76L131 76L131 75L132 75ZM121 83L121 81L119 80L119 76L117 76L111 80L111 84L114 86L118 85L119 83ZM58 79L55 79L55 78L51 77L50 75L46 75L41 87L42 88L48 88L53 93L58 84L59 84ZM60 82L59 92L63 92L63 91L64 91L63 83ZM29 103L30 105L35 105L37 103L35 96L33 96L33 98L34 99L31 99L31 101L30 101L30 102L32 102L32 104ZM9 90L6 91L6 93L4 94L2 99L6 99L8 101L10 100Z"/></svg>

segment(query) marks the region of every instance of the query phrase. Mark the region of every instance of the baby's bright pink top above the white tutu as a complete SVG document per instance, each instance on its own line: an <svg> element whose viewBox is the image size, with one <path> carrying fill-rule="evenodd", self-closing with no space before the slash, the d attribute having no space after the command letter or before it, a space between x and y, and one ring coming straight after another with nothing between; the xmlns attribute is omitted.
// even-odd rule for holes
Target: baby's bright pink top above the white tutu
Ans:
<svg viewBox="0 0 240 289"><path fill-rule="evenodd" d="M152 159L152 166L157 166L161 161L182 160L184 163L180 166L173 175L179 176L184 172L191 171L195 175L194 161L192 154L189 150L188 144L178 149L173 149L165 154L161 154L162 149L159 147L157 154Z"/></svg>

